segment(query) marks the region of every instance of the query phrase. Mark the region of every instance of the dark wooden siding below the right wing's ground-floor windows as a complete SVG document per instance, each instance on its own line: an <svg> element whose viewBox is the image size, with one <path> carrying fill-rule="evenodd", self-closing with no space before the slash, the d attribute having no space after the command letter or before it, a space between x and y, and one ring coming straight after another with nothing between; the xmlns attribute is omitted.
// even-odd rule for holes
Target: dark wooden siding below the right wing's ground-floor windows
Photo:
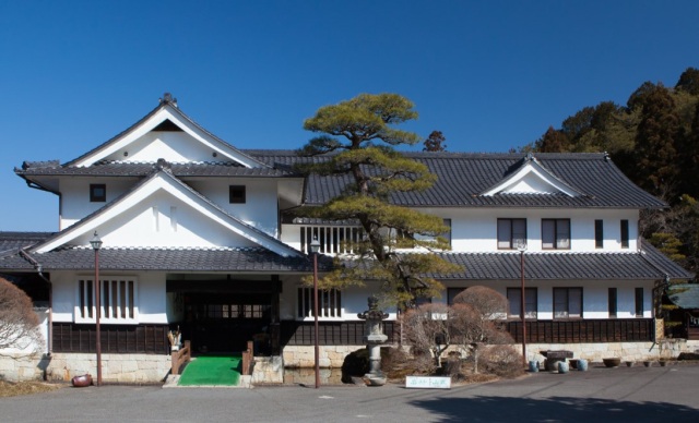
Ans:
<svg viewBox="0 0 699 423"><path fill-rule="evenodd" d="M516 342L522 341L522 323L508 322ZM644 342L654 338L652 318L611 318L526 322L526 342Z"/></svg>

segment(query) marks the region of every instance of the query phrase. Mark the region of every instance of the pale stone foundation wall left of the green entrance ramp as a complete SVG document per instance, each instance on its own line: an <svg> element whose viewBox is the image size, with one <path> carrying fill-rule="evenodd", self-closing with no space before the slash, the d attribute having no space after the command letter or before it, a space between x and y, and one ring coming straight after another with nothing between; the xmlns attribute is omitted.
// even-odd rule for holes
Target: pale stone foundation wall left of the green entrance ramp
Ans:
<svg viewBox="0 0 699 423"><path fill-rule="evenodd" d="M0 377L8 380L63 380L90 373L97 377L95 354L54 353L50 358L0 356ZM165 379L170 356L164 354L102 354L102 379L105 383L152 384Z"/></svg>

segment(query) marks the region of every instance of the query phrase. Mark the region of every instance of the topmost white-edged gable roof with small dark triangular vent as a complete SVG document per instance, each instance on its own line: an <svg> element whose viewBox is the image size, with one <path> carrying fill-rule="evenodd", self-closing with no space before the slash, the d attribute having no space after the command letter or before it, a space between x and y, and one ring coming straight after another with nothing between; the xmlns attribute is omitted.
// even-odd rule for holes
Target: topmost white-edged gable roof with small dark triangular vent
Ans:
<svg viewBox="0 0 699 423"><path fill-rule="evenodd" d="M153 130L159 130L164 126L168 130L171 130L171 128L175 126L187 132L192 138L208 147L211 147L217 155L223 156L223 161L236 161L247 168L266 166L199 125L191 118L185 114L177 106L177 100L173 99L173 97L166 93L164 98L161 99L159 105L137 123L102 145L71 161L68 161L63 167L92 166L105 159L109 155L115 154L117 150L123 149L125 146L134 142L145 133Z"/></svg>

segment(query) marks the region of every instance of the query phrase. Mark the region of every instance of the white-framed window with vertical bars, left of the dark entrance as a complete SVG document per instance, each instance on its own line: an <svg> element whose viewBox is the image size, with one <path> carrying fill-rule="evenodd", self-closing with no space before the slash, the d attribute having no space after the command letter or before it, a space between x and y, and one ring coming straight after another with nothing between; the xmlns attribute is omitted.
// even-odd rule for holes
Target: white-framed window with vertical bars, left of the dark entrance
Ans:
<svg viewBox="0 0 699 423"><path fill-rule="evenodd" d="M138 323L138 281L134 278L109 278L99 282L99 323ZM78 281L75 323L95 322L95 288L93 279Z"/></svg>

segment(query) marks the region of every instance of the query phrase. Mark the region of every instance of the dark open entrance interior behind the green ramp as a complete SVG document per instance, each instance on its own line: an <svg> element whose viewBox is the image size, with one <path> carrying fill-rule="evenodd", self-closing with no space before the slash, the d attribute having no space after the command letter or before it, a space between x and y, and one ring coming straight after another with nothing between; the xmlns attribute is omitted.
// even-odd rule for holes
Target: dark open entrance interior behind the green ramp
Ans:
<svg viewBox="0 0 699 423"><path fill-rule="evenodd" d="M272 353L279 324L279 283L269 281L168 281L183 309L182 339L192 352L230 353L254 342L256 354Z"/></svg>

